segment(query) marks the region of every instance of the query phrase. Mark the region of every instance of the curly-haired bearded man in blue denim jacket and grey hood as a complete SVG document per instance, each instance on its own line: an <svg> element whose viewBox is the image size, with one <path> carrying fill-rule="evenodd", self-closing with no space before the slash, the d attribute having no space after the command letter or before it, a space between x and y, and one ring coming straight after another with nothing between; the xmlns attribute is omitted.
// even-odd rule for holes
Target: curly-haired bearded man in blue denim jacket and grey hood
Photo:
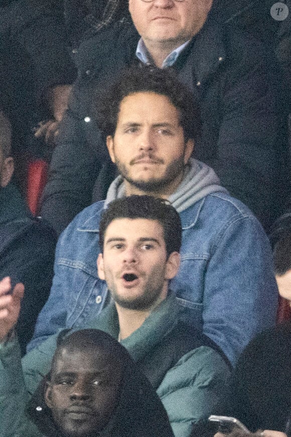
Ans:
<svg viewBox="0 0 291 437"><path fill-rule="evenodd" d="M55 277L34 348L60 327L84 324L108 300L98 278L100 214L131 194L167 198L183 228L181 267L170 288L185 317L234 363L249 340L275 320L277 288L267 237L250 210L220 186L212 168L191 158L199 109L174 72L124 72L98 108L110 157L121 173L107 198L80 212L61 235Z"/></svg>

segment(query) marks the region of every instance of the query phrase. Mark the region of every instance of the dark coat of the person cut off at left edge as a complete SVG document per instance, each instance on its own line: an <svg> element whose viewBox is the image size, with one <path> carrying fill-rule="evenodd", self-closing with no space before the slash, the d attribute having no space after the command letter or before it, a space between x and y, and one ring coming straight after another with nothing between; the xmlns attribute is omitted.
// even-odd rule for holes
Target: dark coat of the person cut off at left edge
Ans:
<svg viewBox="0 0 291 437"><path fill-rule="evenodd" d="M53 277L56 238L51 229L32 217L17 189L0 188L0 280L22 282L25 294L17 325L25 351Z"/></svg>

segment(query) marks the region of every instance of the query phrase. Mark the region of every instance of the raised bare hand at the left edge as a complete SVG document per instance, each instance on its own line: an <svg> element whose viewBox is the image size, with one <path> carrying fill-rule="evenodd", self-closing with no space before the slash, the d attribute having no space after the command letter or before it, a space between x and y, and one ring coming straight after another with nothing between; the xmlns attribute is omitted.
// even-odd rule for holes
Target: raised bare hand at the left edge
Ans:
<svg viewBox="0 0 291 437"><path fill-rule="evenodd" d="M7 335L17 323L23 294L23 284L16 284L12 290L9 277L0 281L0 342L5 341Z"/></svg>

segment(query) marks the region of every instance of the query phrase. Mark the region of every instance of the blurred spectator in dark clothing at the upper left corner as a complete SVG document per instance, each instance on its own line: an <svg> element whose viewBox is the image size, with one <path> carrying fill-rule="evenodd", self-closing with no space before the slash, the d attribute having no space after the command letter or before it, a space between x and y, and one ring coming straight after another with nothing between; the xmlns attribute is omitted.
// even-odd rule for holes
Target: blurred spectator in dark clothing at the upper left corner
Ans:
<svg viewBox="0 0 291 437"><path fill-rule="evenodd" d="M24 188L26 162L51 155L52 123L60 121L76 78L62 0L3 5L0 39L1 101L12 121L12 151Z"/></svg>

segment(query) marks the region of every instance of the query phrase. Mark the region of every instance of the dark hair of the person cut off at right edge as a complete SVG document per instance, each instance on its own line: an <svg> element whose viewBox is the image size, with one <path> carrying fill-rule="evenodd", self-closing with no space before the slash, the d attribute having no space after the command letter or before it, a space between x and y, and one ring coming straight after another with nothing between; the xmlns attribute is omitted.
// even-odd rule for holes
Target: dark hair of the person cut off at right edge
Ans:
<svg viewBox="0 0 291 437"><path fill-rule="evenodd" d="M273 224L270 231L273 249L274 273L284 275L291 269L291 213L284 214Z"/></svg>

